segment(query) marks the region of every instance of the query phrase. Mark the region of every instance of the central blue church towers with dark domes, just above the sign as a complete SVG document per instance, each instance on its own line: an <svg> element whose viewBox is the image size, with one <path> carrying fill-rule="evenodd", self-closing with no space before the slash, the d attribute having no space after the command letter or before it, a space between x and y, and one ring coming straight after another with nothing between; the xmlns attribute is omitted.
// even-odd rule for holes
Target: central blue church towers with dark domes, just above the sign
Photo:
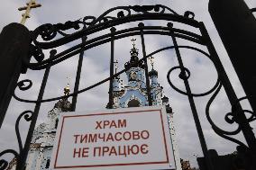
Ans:
<svg viewBox="0 0 256 170"><path fill-rule="evenodd" d="M131 59L125 63L124 67L128 69L126 71L128 85L122 87L119 77L114 78L114 105L113 108L125 108L125 107L140 107L148 106L148 95L145 83L145 66L138 58L138 49L133 46L130 51ZM162 105L162 89L158 83L158 72L151 69L149 72L151 79L151 100L152 105ZM169 105L167 106L169 107ZM171 108L169 107L169 112Z"/></svg>

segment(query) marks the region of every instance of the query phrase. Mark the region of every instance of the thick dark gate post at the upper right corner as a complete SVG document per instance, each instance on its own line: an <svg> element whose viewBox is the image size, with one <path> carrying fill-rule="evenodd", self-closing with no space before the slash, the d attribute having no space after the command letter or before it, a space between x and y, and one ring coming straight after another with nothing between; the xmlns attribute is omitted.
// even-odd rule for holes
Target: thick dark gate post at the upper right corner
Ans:
<svg viewBox="0 0 256 170"><path fill-rule="evenodd" d="M243 0L210 0L209 13L256 112L256 18Z"/></svg>

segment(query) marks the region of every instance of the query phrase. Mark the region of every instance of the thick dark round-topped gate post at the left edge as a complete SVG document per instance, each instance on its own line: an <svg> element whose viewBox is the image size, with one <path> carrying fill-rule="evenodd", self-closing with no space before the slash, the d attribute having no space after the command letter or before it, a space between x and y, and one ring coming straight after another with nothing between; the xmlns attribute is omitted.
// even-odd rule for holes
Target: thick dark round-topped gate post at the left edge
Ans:
<svg viewBox="0 0 256 170"><path fill-rule="evenodd" d="M0 128L11 101L14 86L29 54L30 31L20 23L10 23L0 34Z"/></svg>

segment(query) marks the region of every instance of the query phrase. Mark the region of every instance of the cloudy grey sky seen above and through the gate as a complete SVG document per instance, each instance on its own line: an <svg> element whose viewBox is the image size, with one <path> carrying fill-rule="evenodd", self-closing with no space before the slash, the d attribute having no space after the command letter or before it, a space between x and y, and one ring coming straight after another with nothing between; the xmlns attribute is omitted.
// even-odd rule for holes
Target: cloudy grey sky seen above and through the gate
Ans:
<svg viewBox="0 0 256 170"><path fill-rule="evenodd" d="M41 8L33 9L31 13L31 18L25 23L26 27L33 31L38 26L44 23L58 23L75 21L87 15L99 16L104 13L107 9L121 6L121 5L134 5L134 4L164 4L169 6L169 8L176 11L178 14L183 14L186 11L191 11L196 14L195 19L197 21L204 22L206 24L206 29L209 32L211 39L213 40L215 49L223 62L225 71L230 78L233 88L238 95L238 97L244 96L242 86L234 73L232 64L227 56L224 49L224 45L220 40L217 31L215 30L215 25L207 11L208 1L206 0L39 0L38 3L42 4ZM256 2L253 0L245 1L250 8L256 6ZM18 7L23 6L26 1L23 0L1 0L0 7L0 31L5 27L5 25L11 22L20 22L22 12L17 10ZM156 25L160 24L165 26L167 22L144 22L145 25ZM136 26L138 22L127 23L122 26L116 27L117 30L121 30L126 27ZM196 31L190 27L183 24L176 24L181 29L187 29L188 31ZM101 33L109 32L105 30ZM123 65L130 58L130 49L132 48L131 39L136 38L136 46L140 50L139 57L142 58L142 48L139 37L130 37L123 40L115 41L114 56L119 61L119 70L123 69ZM165 36L145 36L146 41L146 52L150 52L160 49L165 46L172 44L169 37ZM57 50L62 51L64 49L69 49L70 47L78 44L79 40L69 43L67 45L59 47ZM186 40L178 40L178 43L183 45L196 45ZM197 45L196 45L197 46ZM199 46L198 46L199 47ZM204 49L204 47L200 47ZM206 48L204 49L206 50ZM209 90L216 81L216 71L215 67L211 61L207 58L203 58L201 54L198 54L192 50L181 49L181 55L184 59L184 64L191 71L191 77L189 78L189 83L192 88L192 92L202 93ZM46 58L49 57L49 50L45 51ZM109 57L110 57L110 44L105 44L95 49L88 49L85 51L84 62L82 67L82 75L80 80L79 89L85 88L88 85L93 85L96 82L108 77L109 75ZM74 88L75 74L78 64L78 56L69 58L58 65L51 67L50 76L48 84L46 86L44 98L55 97L63 94L63 88L67 85L68 81L70 83L71 91ZM197 166L197 157L202 157L202 151L199 144L199 139L197 137L197 130L192 117L192 112L189 107L187 97L178 94L176 91L171 89L167 81L167 72L170 67L175 67L178 65L177 58L173 50L164 51L155 56L154 68L159 72L159 83L164 87L165 95L169 97L169 103L173 109L174 113L174 123L177 131L178 148L180 152L180 157L190 160L192 166ZM32 79L32 88L25 92L18 92L17 94L23 98L36 99L41 85L41 79L43 76L43 71L31 71L28 70L27 74L20 76L20 80L29 78ZM70 77L70 78L67 78ZM123 81L126 81L126 76L123 74L121 76ZM178 79L178 72L175 72L171 77L172 82L179 88L184 89L184 85ZM70 80L69 80L70 79ZM108 83L104 85L99 85L93 90L85 92L78 95L78 105L77 111L86 110L99 110L104 109L105 104L108 100ZM206 102L210 96L196 98L198 115L201 121L201 125L206 138L206 144L209 149L215 148L219 155L232 153L236 144L227 141L219 136L217 136L214 130L211 129L209 122L206 120ZM71 99L69 99L71 101ZM43 103L41 105L41 111L37 124L44 122L47 118L47 112L52 109L55 102ZM5 117L4 125L0 130L0 151L5 148L18 148L18 144L14 135L14 123L17 116L25 111L32 110L33 104L20 103L12 100L10 103L8 112ZM247 102L243 102L242 106L245 108L250 108ZM230 125L224 121L224 115L230 112L230 104L224 90L217 95L215 102L211 105L210 112L212 119L215 123L224 130L234 130L236 125ZM146 120L146 119L145 119ZM21 121L20 130L24 137L28 130L29 123L26 121ZM255 123L251 124L251 127L255 128ZM255 133L255 130L253 130ZM4 137L4 138L3 138ZM242 135L235 136L236 139L244 141Z"/></svg>

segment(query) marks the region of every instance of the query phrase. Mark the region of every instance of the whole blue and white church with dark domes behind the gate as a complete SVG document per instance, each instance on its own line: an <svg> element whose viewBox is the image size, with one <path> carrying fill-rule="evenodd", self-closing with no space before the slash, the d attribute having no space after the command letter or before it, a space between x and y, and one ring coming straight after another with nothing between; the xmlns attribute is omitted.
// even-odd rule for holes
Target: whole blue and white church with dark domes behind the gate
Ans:
<svg viewBox="0 0 256 170"><path fill-rule="evenodd" d="M126 71L127 85L123 86L123 81L120 77L114 77L113 80L113 109L127 107L149 106L145 66L143 61L139 60L139 51L134 47L131 49L131 59L125 63L124 67L129 68ZM176 141L175 126L173 123L173 112L169 106L169 98L163 96L163 87L158 82L158 72L153 68L151 62L151 71L149 72L151 101L152 105L165 105L168 113L169 132L171 135L172 147L174 150L175 162L177 170L181 170L180 157L178 154L178 145ZM116 68L117 69L117 68ZM115 69L115 70L116 70ZM64 88L64 94L69 94L69 85ZM106 106L109 108L109 104ZM54 108L48 112L48 121L41 123L34 130L31 148L27 158L26 170L49 170L50 156L56 135L56 129L59 122L59 114L61 112L69 112L71 103L68 98L59 100ZM142 121L146 121L142 120ZM15 164L9 167L15 169Z"/></svg>

